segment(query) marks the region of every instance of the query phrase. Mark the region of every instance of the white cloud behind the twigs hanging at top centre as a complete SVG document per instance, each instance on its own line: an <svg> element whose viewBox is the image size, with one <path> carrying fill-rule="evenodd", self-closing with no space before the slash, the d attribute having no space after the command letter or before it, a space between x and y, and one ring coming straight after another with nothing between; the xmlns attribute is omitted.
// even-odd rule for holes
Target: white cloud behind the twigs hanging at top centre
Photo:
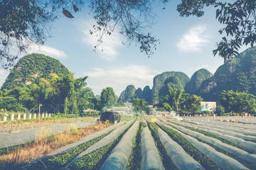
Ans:
<svg viewBox="0 0 256 170"><path fill-rule="evenodd" d="M90 30L92 30L92 26L95 23L93 21L86 21L80 24L81 32L82 32L82 42L85 42L86 45L95 49L95 45L98 44L97 36L95 34L90 35ZM111 35L103 35L102 43L97 46L95 50L99 52L100 57L107 61L115 60L119 52L117 48L122 45L122 40L120 40L119 35L117 33L112 33Z"/></svg>

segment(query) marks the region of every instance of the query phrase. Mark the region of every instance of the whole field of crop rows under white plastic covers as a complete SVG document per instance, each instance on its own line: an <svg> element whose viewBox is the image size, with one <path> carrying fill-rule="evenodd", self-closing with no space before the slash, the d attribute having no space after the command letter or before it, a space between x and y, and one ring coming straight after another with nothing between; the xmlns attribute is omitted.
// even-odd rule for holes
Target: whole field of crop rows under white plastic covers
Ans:
<svg viewBox="0 0 256 170"><path fill-rule="evenodd" d="M21 169L256 169L255 131L239 124L121 122Z"/></svg>

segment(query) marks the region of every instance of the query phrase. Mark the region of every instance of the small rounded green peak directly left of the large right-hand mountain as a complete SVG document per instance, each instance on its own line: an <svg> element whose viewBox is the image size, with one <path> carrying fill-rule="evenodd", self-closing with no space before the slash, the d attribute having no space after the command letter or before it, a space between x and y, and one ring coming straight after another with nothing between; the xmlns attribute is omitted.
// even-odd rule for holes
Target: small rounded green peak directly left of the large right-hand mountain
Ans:
<svg viewBox="0 0 256 170"><path fill-rule="evenodd" d="M211 74L207 69L199 69L192 75L188 84L186 84L186 93L198 94L198 89L200 88L202 82L210 77L213 77L213 74Z"/></svg>

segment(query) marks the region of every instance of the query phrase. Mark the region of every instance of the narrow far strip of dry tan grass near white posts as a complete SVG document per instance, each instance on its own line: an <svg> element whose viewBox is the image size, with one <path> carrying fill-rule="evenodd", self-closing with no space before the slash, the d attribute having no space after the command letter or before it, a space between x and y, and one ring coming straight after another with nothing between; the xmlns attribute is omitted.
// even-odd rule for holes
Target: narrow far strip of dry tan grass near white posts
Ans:
<svg viewBox="0 0 256 170"><path fill-rule="evenodd" d="M0 129L4 129L8 132L26 129L26 128L36 128L41 126L48 126L54 124L62 124L62 123L73 123L73 122L91 122L94 121L95 118L62 118L62 119L53 119L53 120L31 120L31 121L9 121L6 123L0 123Z"/></svg>

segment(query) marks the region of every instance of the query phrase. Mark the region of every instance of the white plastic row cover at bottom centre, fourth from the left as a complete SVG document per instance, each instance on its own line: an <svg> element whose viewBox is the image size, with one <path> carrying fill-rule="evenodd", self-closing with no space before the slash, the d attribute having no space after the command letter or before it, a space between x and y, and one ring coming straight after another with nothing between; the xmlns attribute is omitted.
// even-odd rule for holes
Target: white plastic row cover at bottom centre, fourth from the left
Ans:
<svg viewBox="0 0 256 170"><path fill-rule="evenodd" d="M159 152L151 136L149 128L146 126L142 130L142 170L159 169L164 170L164 166L159 157Z"/></svg>

